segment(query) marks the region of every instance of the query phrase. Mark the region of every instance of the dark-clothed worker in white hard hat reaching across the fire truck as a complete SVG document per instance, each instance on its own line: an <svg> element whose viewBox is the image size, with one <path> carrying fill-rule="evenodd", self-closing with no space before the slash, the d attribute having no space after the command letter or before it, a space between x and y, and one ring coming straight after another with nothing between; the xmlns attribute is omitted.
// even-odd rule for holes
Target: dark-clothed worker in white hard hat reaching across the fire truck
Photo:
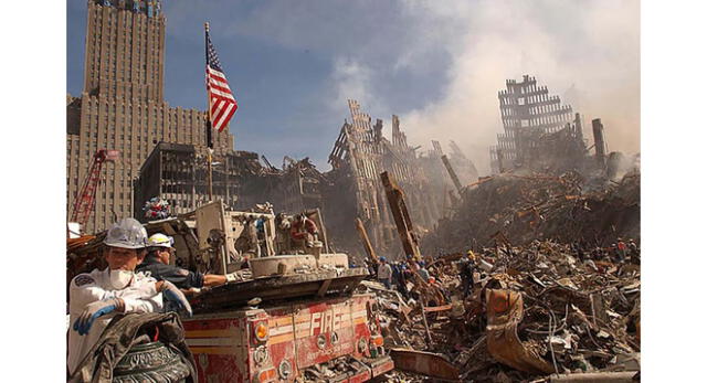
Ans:
<svg viewBox="0 0 707 383"><path fill-rule="evenodd" d="M154 234L147 240L147 256L140 265L139 272L149 272L157 280L169 280L183 290L199 291L203 287L224 285L229 281L241 280L235 273L226 275L202 274L170 265L175 255L175 238L161 233Z"/></svg>

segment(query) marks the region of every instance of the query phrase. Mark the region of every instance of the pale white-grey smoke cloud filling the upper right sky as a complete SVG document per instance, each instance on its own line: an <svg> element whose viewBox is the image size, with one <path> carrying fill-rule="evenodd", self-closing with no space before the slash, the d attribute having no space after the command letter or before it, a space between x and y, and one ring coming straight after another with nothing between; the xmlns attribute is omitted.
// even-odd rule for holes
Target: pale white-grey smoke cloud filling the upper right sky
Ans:
<svg viewBox="0 0 707 383"><path fill-rule="evenodd" d="M536 76L582 115L600 117L611 151L640 151L637 1L444 1L409 7L430 24L454 25L445 96L401 116L412 142L456 140L488 172L488 146L503 131L497 92ZM592 143L591 141L589 142Z"/></svg>

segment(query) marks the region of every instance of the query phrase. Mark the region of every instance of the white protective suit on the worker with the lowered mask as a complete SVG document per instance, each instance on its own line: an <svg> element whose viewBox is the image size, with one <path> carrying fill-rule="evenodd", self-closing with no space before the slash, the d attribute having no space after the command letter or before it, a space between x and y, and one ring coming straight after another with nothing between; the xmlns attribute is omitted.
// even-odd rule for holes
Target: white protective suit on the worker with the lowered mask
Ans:
<svg viewBox="0 0 707 383"><path fill-rule="evenodd" d="M135 273L133 280L123 289L115 289L110 284L108 268L94 269L88 274L80 274L72 279L68 287L68 372L74 373L78 363L91 348L98 341L110 319L119 312L110 312L98 317L87 334L81 336L74 330L74 322L86 305L110 298L123 298L125 312L159 312L162 310L162 295L155 289L157 279L143 273Z"/></svg>

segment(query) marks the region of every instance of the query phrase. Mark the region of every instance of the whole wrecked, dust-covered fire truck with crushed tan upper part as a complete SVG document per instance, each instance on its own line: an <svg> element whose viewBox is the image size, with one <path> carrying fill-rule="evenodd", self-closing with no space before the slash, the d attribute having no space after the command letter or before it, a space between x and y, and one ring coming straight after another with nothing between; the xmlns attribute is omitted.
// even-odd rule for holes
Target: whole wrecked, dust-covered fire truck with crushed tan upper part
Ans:
<svg viewBox="0 0 707 383"><path fill-rule="evenodd" d="M312 220L309 243L289 241L295 220ZM366 382L394 368L374 297L355 292L368 272L330 252L318 210L295 220L217 201L145 224L175 238L179 266L243 275L190 297L182 323L200 382ZM71 274L102 266L88 256L102 235L74 252Z"/></svg>

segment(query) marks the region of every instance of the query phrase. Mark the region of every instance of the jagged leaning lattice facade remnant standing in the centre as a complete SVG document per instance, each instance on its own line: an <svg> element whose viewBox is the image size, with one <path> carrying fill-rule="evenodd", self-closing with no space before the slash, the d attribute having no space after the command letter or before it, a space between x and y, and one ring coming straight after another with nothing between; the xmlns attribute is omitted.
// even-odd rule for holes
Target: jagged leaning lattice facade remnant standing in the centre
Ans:
<svg viewBox="0 0 707 383"><path fill-rule="evenodd" d="M441 167L440 158L436 166L434 156L423 160L415 152L418 148L408 145L398 116L392 116L389 140L383 137L382 120L377 119L372 125L371 117L361 111L356 100L349 100L348 106L351 121L344 123L328 160L333 170L327 177L335 185L330 192L341 202L324 210L331 237L338 238L337 245L342 248L359 248L354 222L360 219L377 251L402 255L380 173L388 171L404 190L409 205L414 206L410 214L418 234L432 228L443 215L449 180L433 182L432 177L442 173L429 170ZM329 199L334 200L335 195L329 194Z"/></svg>

